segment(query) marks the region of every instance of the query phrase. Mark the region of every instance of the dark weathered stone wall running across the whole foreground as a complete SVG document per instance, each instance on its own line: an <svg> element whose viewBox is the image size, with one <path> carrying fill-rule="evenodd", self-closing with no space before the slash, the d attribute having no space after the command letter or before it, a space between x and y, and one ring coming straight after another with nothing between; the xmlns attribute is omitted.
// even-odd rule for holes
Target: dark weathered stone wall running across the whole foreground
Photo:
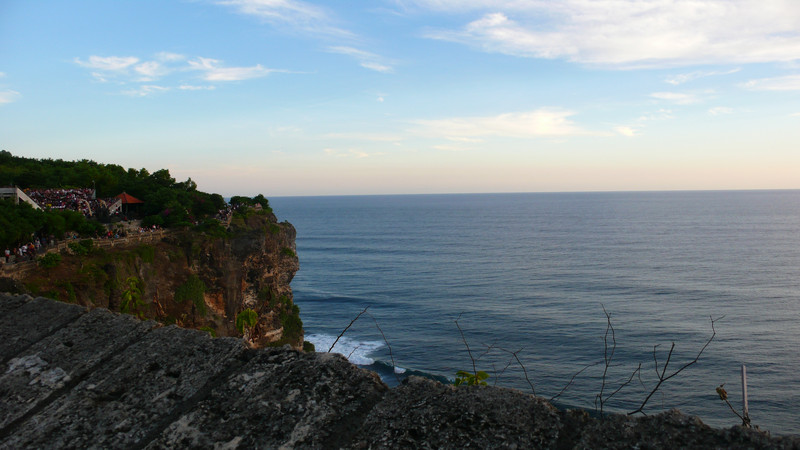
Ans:
<svg viewBox="0 0 800 450"><path fill-rule="evenodd" d="M800 448L678 411L604 420L519 391L254 350L103 309L0 294L0 448Z"/></svg>

